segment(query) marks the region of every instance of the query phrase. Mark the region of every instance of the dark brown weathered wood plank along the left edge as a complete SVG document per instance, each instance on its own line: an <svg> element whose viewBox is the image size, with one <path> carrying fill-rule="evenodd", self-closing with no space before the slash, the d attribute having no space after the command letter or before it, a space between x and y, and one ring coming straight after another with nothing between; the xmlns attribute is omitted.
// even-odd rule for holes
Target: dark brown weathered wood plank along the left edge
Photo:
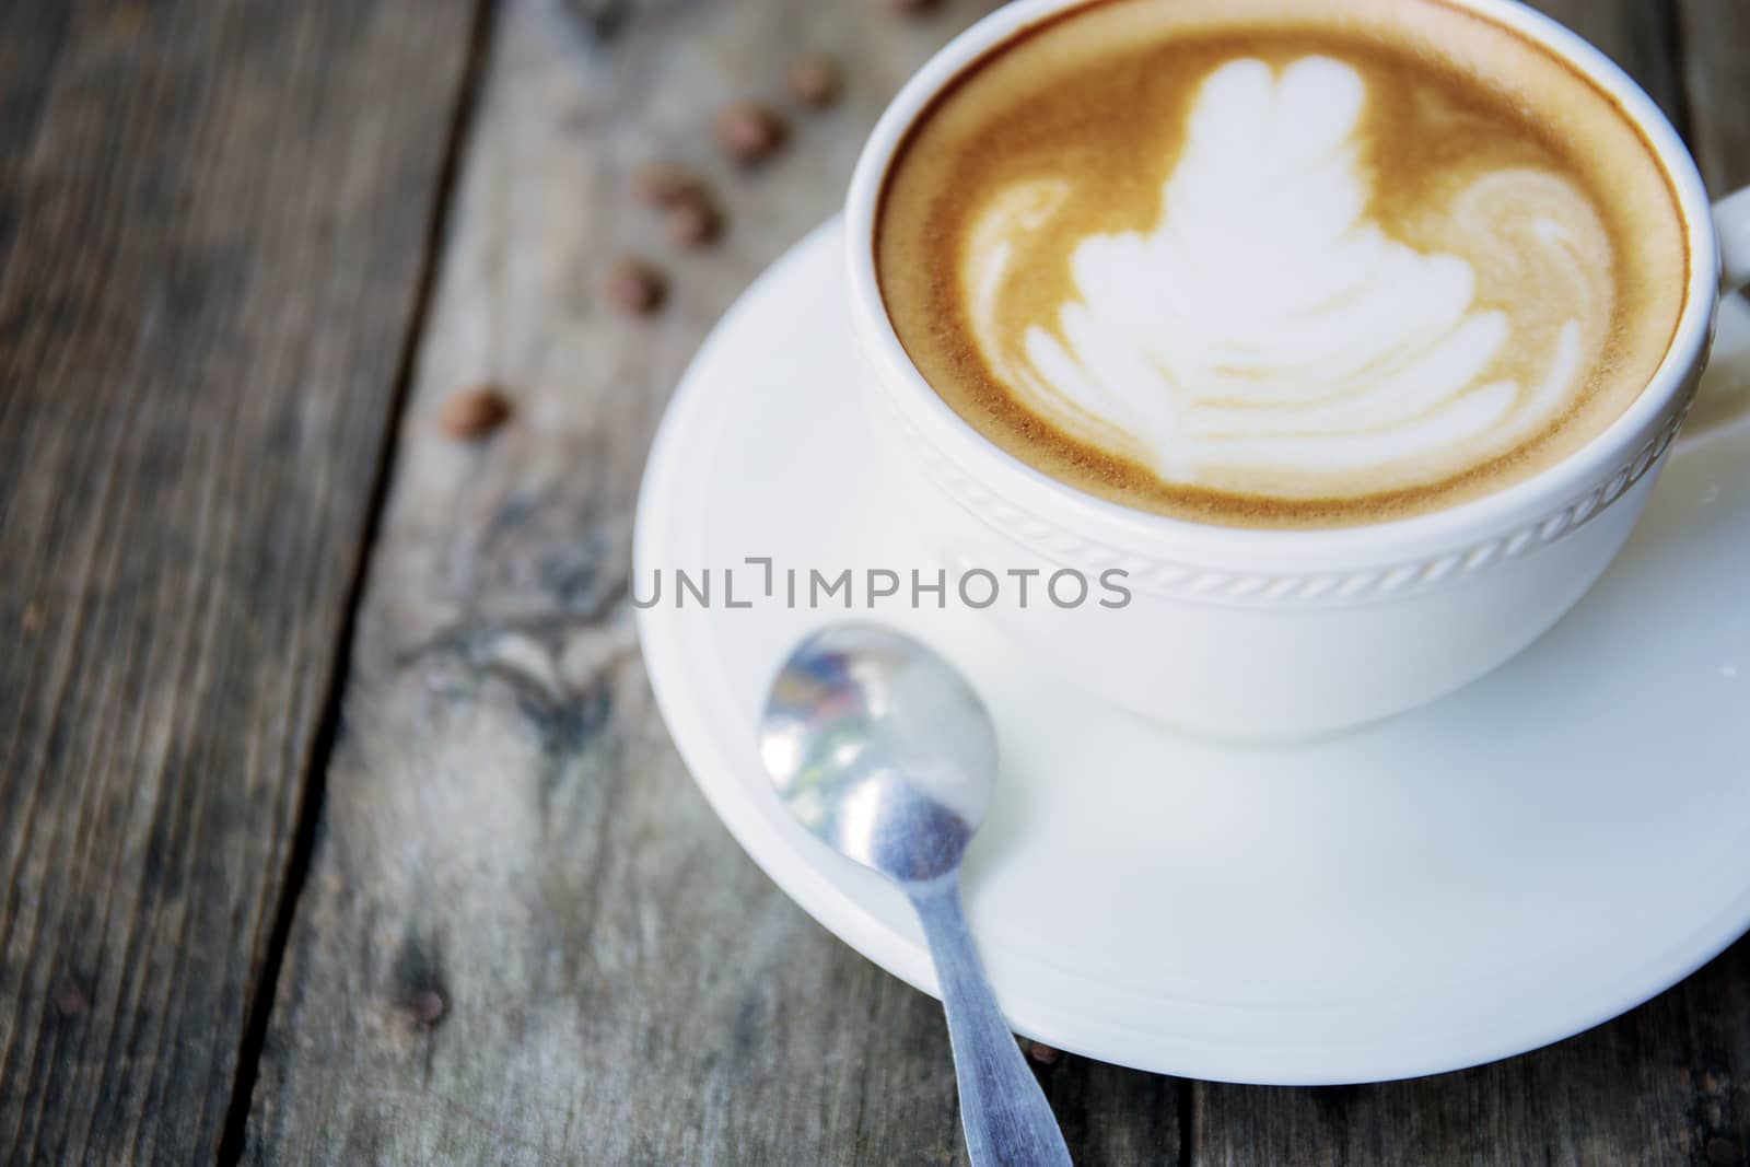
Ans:
<svg viewBox="0 0 1750 1167"><path fill-rule="evenodd" d="M0 1162L212 1160L469 0L0 5Z"/></svg>

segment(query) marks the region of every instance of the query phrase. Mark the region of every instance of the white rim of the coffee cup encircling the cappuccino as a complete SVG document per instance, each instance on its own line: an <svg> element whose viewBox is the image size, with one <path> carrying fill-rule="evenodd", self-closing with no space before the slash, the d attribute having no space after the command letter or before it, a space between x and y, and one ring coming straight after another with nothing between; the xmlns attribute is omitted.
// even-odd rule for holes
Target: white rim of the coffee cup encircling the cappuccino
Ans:
<svg viewBox="0 0 1750 1167"><path fill-rule="evenodd" d="M1447 507L1379 523L1256 528L1200 523L1127 507L1064 483L1008 453L973 429L928 383L900 343L875 276L875 215L894 152L917 115L961 72L996 45L1060 14L1108 0L1017 0L954 37L917 70L870 133L845 198L845 269L852 327L894 404L929 427L929 441L961 469L976 465L980 485L1034 513L1046 507L1074 530L1101 530L1129 544L1199 548L1246 558L1297 560L1332 555L1405 555L1486 537L1592 488L1622 469L1626 450L1654 432L1673 395L1690 383L1718 304L1718 245L1712 205L1694 156L1659 105L1615 61L1556 19L1519 0L1433 0L1474 12L1533 40L1605 91L1652 147L1676 196L1689 248L1689 287L1664 357L1634 401L1578 450L1536 474Z"/></svg>

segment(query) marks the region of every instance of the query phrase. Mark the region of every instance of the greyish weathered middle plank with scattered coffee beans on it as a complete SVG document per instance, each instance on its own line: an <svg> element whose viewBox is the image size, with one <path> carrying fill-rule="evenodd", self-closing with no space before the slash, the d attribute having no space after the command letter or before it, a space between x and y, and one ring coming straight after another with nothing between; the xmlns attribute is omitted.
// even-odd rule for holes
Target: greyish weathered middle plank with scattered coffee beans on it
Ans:
<svg viewBox="0 0 1750 1167"><path fill-rule="evenodd" d="M504 3L252 1162L959 1162L940 1008L808 922L714 821L651 703L626 574L686 360L836 208L882 103L975 7ZM836 108L782 101L802 49L845 61ZM737 96L793 124L751 175L710 142ZM630 198L649 157L714 180L716 250L679 254ZM670 268L654 318L602 299L625 247ZM480 381L516 415L458 448L436 416ZM1043 1074L1088 1162L1178 1153L1174 1083L1073 1059Z"/></svg>

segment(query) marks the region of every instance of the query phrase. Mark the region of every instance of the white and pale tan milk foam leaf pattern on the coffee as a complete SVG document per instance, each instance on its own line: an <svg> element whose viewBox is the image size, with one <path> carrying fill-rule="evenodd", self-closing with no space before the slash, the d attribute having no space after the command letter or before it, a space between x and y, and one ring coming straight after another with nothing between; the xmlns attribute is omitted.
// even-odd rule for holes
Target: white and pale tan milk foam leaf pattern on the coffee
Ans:
<svg viewBox="0 0 1750 1167"><path fill-rule="evenodd" d="M1001 327L1015 252L1071 178L973 220L973 341L1026 406L1167 483L1356 497L1463 472L1584 390L1615 296L1610 238L1559 173L1470 175L1393 234L1370 217L1367 82L1304 56L1202 82L1150 233L1088 234L1055 320Z"/></svg>

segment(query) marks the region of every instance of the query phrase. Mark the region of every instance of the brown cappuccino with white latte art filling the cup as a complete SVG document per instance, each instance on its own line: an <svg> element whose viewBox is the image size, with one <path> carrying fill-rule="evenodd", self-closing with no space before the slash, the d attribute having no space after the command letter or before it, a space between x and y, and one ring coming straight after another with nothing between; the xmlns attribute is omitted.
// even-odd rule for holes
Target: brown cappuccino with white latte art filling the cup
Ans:
<svg viewBox="0 0 1750 1167"><path fill-rule="evenodd" d="M1684 310L1614 100L1440 0L1094 0L968 66L877 213L887 315L1032 467L1208 523L1405 518L1615 420Z"/></svg>

